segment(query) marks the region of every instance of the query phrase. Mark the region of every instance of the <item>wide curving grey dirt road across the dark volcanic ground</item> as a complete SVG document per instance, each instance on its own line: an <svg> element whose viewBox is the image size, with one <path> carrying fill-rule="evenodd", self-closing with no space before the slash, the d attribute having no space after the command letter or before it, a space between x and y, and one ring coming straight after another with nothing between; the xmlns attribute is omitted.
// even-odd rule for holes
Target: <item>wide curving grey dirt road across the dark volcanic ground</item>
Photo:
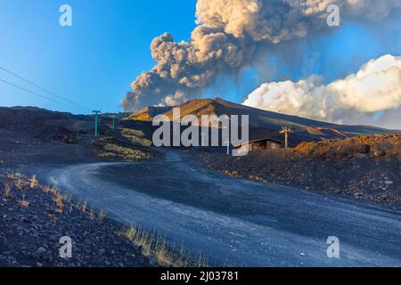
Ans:
<svg viewBox="0 0 401 285"><path fill-rule="evenodd" d="M77 199L217 265L401 265L399 208L233 179L174 152L159 162L46 172L49 183ZM326 256L329 236L340 238L340 259Z"/></svg>

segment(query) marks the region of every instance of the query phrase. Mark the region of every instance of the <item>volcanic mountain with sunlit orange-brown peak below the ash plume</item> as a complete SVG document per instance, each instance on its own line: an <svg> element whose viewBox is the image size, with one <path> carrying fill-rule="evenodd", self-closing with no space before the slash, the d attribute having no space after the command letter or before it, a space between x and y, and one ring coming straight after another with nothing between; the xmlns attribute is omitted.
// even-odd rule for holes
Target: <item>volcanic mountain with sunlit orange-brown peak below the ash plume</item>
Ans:
<svg viewBox="0 0 401 285"><path fill-rule="evenodd" d="M397 133L374 126L341 126L308 118L284 115L266 110L259 110L241 104L227 102L222 99L201 99L186 102L176 106L180 108L180 117L194 115L201 118L202 115L217 116L227 115L249 115L250 116L250 138L262 137L281 138L278 131L282 126L291 127L295 132L292 134L291 144L298 144L302 141L317 141L322 138L334 139L345 138L357 134L389 134ZM173 107L148 107L135 112L130 119L151 121L157 115L166 115L173 119ZM201 121L201 119L200 119Z"/></svg>

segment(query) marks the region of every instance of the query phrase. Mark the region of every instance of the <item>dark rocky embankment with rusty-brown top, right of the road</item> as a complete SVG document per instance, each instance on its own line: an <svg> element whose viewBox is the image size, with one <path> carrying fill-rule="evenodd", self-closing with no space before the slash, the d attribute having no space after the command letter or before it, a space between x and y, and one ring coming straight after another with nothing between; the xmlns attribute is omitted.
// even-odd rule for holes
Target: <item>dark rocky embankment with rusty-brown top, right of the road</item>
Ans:
<svg viewBox="0 0 401 285"><path fill-rule="evenodd" d="M399 204L400 144L401 134L364 135L250 152L241 158L201 156L209 167L233 177Z"/></svg>

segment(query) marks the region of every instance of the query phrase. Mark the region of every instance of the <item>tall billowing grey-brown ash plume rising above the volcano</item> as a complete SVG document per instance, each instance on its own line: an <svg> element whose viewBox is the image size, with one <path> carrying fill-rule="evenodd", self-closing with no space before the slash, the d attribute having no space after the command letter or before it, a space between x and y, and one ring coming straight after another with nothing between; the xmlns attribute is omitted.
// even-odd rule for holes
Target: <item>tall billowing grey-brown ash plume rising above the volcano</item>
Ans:
<svg viewBox="0 0 401 285"><path fill-rule="evenodd" d="M136 78L121 105L132 111L196 98L217 74L241 69L264 44L327 28L329 4L338 4L343 18L378 20L401 0L199 0L191 40L156 37L151 56L157 65Z"/></svg>

